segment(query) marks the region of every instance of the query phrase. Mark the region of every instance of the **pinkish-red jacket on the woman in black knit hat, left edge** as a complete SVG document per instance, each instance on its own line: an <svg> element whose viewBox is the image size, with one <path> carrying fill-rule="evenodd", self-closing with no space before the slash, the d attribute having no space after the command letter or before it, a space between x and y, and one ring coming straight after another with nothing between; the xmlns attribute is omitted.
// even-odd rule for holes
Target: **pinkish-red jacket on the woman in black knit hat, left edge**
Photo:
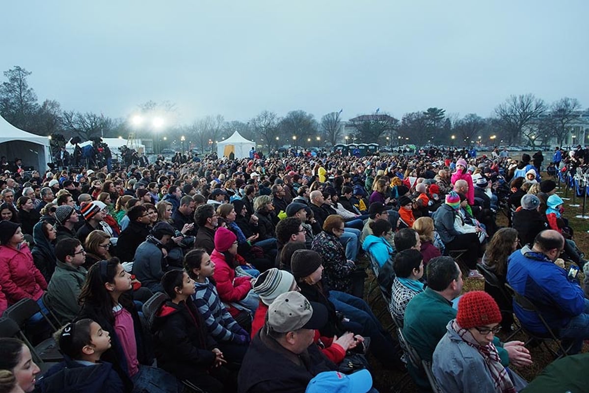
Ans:
<svg viewBox="0 0 589 393"><path fill-rule="evenodd" d="M21 244L19 250L0 246L0 286L8 304L24 298L37 301L42 297L47 289L47 281L35 267L27 244Z"/></svg>

